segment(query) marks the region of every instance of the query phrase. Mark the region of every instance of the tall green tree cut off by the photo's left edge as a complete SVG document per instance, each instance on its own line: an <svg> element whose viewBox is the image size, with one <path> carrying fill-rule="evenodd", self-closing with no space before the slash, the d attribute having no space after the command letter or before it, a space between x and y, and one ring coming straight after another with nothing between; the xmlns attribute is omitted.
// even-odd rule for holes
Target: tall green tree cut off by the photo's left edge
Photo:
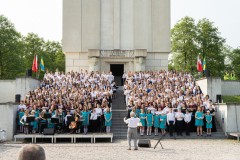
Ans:
<svg viewBox="0 0 240 160"><path fill-rule="evenodd" d="M14 79L23 74L22 46L21 34L0 15L0 79Z"/></svg>

